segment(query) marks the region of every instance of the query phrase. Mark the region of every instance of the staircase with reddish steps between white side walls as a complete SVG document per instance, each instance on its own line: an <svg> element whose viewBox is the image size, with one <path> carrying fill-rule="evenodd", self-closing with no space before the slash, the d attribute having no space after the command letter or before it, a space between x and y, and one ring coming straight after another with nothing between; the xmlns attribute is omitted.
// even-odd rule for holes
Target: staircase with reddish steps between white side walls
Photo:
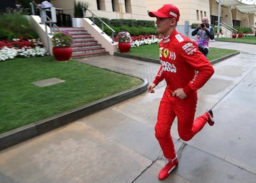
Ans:
<svg viewBox="0 0 256 183"><path fill-rule="evenodd" d="M102 45L98 44L84 28L60 27L60 30L67 31L73 37L73 58L109 55L109 52L102 48Z"/></svg>

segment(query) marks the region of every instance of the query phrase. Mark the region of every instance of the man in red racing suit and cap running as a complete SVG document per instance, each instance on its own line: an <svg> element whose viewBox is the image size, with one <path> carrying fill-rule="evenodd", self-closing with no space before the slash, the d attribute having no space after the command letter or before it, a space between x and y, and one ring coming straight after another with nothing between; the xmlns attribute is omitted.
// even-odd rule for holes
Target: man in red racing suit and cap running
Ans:
<svg viewBox="0 0 256 183"><path fill-rule="evenodd" d="M178 118L178 135L182 140L191 140L208 122L213 126L213 111L207 110L194 120L197 90L213 75L213 67L198 50L196 43L176 30L180 18L173 4L164 4L158 11L149 11L156 17L156 30L163 39L159 43L161 66L154 81L149 84L149 93L165 79L166 89L159 104L155 136L168 163L159 172L165 179L178 165L178 156L171 138L171 125ZM198 71L198 72L196 72Z"/></svg>

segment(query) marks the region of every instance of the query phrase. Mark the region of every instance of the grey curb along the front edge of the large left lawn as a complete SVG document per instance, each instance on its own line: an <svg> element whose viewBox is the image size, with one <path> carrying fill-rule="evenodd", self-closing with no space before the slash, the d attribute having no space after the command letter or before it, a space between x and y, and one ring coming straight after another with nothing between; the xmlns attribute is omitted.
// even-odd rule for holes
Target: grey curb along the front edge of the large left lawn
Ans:
<svg viewBox="0 0 256 183"><path fill-rule="evenodd" d="M139 78L140 79L140 78ZM35 123L28 124L21 128L16 128L12 131L0 134L0 150L11 147L18 143L22 143L25 140L29 140L43 133L47 133L61 126L65 126L68 123L72 123L80 118L84 118L92 113L96 113L102 109L118 104L119 102L131 99L134 96L144 93L147 90L149 82L146 79L142 79L143 84L133 89L119 92L112 96L108 96L105 99L91 102L85 106L81 106L78 109L73 109L60 113L56 116L37 121Z"/></svg>

